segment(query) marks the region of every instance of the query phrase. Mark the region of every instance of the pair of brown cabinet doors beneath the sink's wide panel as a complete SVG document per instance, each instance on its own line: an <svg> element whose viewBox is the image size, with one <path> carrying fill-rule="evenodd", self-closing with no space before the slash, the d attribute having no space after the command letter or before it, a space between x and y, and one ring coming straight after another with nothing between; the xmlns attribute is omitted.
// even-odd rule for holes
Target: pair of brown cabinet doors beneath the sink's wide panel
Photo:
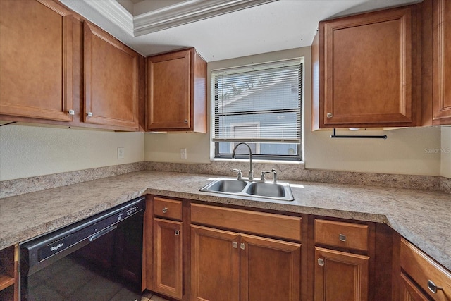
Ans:
<svg viewBox="0 0 451 301"><path fill-rule="evenodd" d="M191 226L192 300L299 300L301 245Z"/></svg>

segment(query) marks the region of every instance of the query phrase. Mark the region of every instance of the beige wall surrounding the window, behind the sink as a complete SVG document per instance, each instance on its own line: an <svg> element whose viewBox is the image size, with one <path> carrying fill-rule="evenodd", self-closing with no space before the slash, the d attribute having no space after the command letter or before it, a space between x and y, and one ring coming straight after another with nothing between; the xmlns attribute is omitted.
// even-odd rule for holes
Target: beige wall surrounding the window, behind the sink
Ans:
<svg viewBox="0 0 451 301"><path fill-rule="evenodd" d="M305 167L335 171L362 171L440 176L443 134L439 127L365 131L363 135L388 135L387 140L330 139L331 132L311 132L311 50L310 47L276 51L208 63L208 73L218 68L242 66L304 56L304 141ZM210 87L208 87L210 103ZM210 108L209 108L210 111ZM369 132L369 133L368 133ZM449 134L449 131L447 132ZM446 135L446 133L445 133ZM180 159L180 148L187 149L187 160ZM209 134L146 134L145 160L159 162L207 163L212 152ZM450 172L451 173L451 172ZM448 173L446 173L448 174Z"/></svg>

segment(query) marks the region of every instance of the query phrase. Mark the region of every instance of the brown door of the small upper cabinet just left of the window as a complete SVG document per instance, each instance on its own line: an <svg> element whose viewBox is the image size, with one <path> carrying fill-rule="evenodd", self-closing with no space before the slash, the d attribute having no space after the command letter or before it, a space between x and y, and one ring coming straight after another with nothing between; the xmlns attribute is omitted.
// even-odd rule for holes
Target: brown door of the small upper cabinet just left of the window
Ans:
<svg viewBox="0 0 451 301"><path fill-rule="evenodd" d="M189 130L191 127L191 51L148 58L147 128Z"/></svg>

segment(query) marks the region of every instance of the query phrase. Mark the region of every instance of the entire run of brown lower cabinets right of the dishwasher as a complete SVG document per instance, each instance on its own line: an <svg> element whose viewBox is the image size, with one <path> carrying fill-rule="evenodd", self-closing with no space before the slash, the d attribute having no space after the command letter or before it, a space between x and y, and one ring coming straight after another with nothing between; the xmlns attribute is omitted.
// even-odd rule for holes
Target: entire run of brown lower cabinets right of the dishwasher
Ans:
<svg viewBox="0 0 451 301"><path fill-rule="evenodd" d="M149 196L144 225L143 289L170 300L451 300L450 271L383 223Z"/></svg>

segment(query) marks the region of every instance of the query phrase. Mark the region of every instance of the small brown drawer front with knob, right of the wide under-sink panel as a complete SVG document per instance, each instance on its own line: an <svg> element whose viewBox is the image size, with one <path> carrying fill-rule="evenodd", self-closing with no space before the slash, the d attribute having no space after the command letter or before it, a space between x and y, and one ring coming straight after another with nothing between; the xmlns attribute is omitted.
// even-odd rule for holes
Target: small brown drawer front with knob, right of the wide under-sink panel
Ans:
<svg viewBox="0 0 451 301"><path fill-rule="evenodd" d="M315 243L368 251L369 226L315 219Z"/></svg>

